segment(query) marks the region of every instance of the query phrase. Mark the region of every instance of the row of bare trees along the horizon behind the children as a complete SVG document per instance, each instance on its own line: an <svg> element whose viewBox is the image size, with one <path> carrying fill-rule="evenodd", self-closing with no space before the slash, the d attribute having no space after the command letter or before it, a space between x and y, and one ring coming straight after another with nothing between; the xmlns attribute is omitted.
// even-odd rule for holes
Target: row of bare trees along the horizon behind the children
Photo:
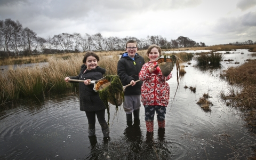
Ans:
<svg viewBox="0 0 256 160"><path fill-rule="evenodd" d="M139 49L147 49L156 44L162 49L206 46L205 43L195 42L188 37L179 36L168 41L162 36L136 37L103 37L101 33L81 35L80 33L61 33L59 35L39 37L28 27L11 19L0 20L0 56L10 57L32 54L77 53L85 51L123 51L129 39L138 42Z"/></svg>

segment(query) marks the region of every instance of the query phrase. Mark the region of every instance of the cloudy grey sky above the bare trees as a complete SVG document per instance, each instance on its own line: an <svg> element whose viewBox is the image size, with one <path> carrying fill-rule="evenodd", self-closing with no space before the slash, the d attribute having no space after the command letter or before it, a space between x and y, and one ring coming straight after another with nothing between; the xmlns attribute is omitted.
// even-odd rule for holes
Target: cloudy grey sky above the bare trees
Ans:
<svg viewBox="0 0 256 160"><path fill-rule="evenodd" d="M101 33L185 36L206 45L256 41L256 0L0 0L0 20L7 18L44 38Z"/></svg>

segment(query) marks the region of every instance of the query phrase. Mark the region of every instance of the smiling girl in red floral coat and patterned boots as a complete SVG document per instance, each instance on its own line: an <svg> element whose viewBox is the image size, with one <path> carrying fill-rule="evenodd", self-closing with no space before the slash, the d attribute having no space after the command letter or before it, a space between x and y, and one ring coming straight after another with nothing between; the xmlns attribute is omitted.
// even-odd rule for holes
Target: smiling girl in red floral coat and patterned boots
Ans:
<svg viewBox="0 0 256 160"><path fill-rule="evenodd" d="M172 73L165 77L159 67L154 68L157 65L157 58L162 55L162 50L159 46L150 45L147 55L150 61L142 66L139 78L143 82L141 86L141 101L145 107L147 132L153 132L155 111L158 128L165 127L166 107L169 103L170 95L170 86L166 81L172 77Z"/></svg>

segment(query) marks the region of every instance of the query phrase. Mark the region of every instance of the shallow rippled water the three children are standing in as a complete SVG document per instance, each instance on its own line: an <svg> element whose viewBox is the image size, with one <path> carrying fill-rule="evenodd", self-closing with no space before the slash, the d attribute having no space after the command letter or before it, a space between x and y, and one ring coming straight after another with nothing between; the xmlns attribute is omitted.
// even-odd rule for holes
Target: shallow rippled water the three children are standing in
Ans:
<svg viewBox="0 0 256 160"><path fill-rule="evenodd" d="M0 115L0 159L246 159L251 156L255 137L244 127L241 113L220 99L228 84L219 78L222 69L253 59L247 50L225 54L221 69L185 68L180 78L173 68L170 103L166 109L165 131L154 121L153 138L146 134L143 106L140 126L126 126L122 107L110 106L110 139L104 140L96 123L97 138L88 137L87 118L79 110L78 94L28 103L6 109ZM196 92L185 89L196 87ZM175 91L177 93L174 98ZM209 93L211 113L196 102ZM174 99L173 99L174 98ZM106 113L107 118L107 113ZM252 146L252 147L251 147Z"/></svg>

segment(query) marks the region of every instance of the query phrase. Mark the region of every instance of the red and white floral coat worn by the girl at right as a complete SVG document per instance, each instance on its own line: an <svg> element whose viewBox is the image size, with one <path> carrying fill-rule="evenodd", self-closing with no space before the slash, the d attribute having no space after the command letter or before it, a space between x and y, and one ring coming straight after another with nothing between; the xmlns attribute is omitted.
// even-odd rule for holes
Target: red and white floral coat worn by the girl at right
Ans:
<svg viewBox="0 0 256 160"><path fill-rule="evenodd" d="M162 75L160 68L158 68L158 74L151 74L148 70L151 64L151 61L145 63L139 73L139 78L143 82L141 86L141 101L143 105L167 107L170 97L170 86L166 81L172 77L172 73L165 77Z"/></svg>

